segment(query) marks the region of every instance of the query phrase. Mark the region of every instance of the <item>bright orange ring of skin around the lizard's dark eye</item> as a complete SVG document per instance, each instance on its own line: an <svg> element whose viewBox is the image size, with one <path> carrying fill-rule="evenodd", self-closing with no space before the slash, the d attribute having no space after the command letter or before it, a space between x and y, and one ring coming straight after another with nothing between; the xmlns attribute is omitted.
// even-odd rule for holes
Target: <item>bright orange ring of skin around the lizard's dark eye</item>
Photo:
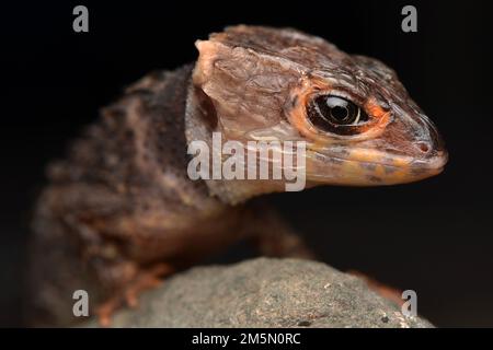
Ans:
<svg viewBox="0 0 493 350"><path fill-rule="evenodd" d="M307 113L310 103L320 95L341 95L341 97L347 98L347 93L334 89L325 81L306 77L298 86L293 89L290 94L290 108L287 112L291 125L302 136L313 141L328 143L366 140L381 135L386 126L390 122L391 113L385 110L374 97L370 97L360 106L368 115L368 121L360 125L352 125L352 135L322 130L310 121ZM351 98L347 100L351 101Z"/></svg>

